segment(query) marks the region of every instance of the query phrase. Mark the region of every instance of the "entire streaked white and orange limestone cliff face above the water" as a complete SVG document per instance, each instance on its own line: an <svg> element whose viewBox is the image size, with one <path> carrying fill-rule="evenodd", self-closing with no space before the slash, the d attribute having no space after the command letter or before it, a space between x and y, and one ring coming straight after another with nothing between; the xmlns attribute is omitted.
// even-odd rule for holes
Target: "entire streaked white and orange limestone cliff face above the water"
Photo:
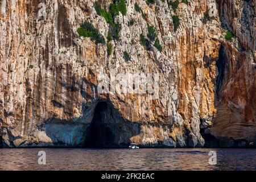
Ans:
<svg viewBox="0 0 256 182"><path fill-rule="evenodd" d="M113 25L98 15L95 3L0 1L3 146L203 147L213 138L220 146L255 141L255 0L188 0L177 8L171 1L126 1L126 14L113 17L121 30L118 40L108 42L111 53L106 44L77 33L90 22L107 42ZM109 11L113 1L98 3ZM218 10L209 18L213 3ZM154 42L141 43L149 26L162 51ZM224 28L233 32L232 40L224 38ZM99 78L113 72L158 74L158 96L100 93ZM128 80L134 89L138 80ZM126 82L121 85L129 87Z"/></svg>

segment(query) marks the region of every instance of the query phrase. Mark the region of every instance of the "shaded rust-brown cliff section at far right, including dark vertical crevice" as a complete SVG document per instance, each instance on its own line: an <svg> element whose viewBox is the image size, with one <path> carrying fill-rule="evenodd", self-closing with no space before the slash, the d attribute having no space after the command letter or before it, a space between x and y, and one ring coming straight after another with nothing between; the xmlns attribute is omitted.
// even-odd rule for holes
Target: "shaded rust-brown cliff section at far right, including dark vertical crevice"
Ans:
<svg viewBox="0 0 256 182"><path fill-rule="evenodd" d="M255 146L256 1L220 1L223 26L236 40L222 43L218 60L217 117L213 134L222 146ZM251 142L251 143L250 143Z"/></svg>

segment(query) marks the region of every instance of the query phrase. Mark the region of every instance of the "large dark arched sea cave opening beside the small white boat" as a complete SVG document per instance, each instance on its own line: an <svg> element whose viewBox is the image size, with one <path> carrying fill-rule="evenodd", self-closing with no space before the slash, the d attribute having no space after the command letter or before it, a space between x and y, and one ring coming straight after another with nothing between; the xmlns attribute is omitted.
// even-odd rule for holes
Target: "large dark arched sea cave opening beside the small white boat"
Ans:
<svg viewBox="0 0 256 182"><path fill-rule="evenodd" d="M124 119L110 101L94 107L93 119L86 131L85 147L128 147L130 138L139 134L139 124Z"/></svg>

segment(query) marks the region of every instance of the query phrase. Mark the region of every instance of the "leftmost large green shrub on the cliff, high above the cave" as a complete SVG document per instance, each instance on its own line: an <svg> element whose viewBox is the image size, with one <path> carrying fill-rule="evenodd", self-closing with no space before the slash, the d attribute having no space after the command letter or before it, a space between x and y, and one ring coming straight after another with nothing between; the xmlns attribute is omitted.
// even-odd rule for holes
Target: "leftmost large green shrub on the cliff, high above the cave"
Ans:
<svg viewBox="0 0 256 182"><path fill-rule="evenodd" d="M77 34L85 38L90 38L90 40L95 41L96 44L105 44L104 37L89 22L85 22L81 27L77 28Z"/></svg>

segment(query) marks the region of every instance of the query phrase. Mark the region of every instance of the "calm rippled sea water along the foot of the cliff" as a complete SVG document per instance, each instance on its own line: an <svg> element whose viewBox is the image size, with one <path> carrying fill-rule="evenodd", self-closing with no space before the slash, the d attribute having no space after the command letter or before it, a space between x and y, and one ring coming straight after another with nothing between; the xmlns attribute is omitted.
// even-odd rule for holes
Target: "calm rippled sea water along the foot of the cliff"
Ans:
<svg viewBox="0 0 256 182"><path fill-rule="evenodd" d="M46 165L38 152L46 152ZM209 164L209 151L217 164ZM0 149L0 170L256 170L255 149Z"/></svg>

